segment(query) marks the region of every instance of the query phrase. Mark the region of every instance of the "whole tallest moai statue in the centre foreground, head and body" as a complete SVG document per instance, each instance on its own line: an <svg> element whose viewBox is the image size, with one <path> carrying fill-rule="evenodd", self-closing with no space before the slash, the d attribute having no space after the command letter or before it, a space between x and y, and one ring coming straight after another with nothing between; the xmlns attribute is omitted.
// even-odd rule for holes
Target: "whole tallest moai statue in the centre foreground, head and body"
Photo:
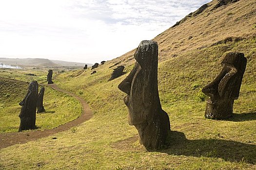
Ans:
<svg viewBox="0 0 256 170"><path fill-rule="evenodd" d="M147 150L163 146L170 132L170 120L162 110L158 95L158 44L142 41L134 54L136 65L118 85L127 96L128 123L138 130Z"/></svg>

